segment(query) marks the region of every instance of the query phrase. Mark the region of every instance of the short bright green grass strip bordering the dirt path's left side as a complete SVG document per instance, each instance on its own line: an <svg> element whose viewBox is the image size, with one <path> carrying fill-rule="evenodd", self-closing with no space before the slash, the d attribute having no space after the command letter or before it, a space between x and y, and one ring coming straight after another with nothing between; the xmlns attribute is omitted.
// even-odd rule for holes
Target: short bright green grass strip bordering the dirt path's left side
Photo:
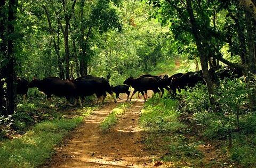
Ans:
<svg viewBox="0 0 256 168"><path fill-rule="evenodd" d="M0 147L0 167L37 167L53 154L53 148L83 117L55 119L35 125L20 138L6 140Z"/></svg>

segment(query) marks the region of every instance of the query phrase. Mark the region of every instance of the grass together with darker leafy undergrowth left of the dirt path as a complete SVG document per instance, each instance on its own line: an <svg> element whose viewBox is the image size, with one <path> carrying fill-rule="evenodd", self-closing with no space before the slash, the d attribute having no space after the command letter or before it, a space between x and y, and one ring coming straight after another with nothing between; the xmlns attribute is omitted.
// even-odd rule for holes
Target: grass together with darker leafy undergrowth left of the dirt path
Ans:
<svg viewBox="0 0 256 168"><path fill-rule="evenodd" d="M29 93L28 103L19 103L12 116L0 117L0 167L44 164L63 137L97 108L88 105L76 109L64 98L56 97L50 104L43 95Z"/></svg>

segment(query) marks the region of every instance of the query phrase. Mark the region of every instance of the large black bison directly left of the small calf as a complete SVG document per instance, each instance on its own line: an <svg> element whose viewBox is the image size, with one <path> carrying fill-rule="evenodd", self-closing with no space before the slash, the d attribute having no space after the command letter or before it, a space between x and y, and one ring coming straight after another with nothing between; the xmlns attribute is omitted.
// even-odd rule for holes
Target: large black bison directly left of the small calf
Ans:
<svg viewBox="0 0 256 168"><path fill-rule="evenodd" d="M107 79L103 77L94 77L92 75L84 75L82 77L79 77L73 81L77 87L78 95L85 97L95 94L97 96L97 102L102 98L101 103L104 102L107 94L109 93L115 103L116 99L113 95L113 92L111 91L111 87L109 85L109 82Z"/></svg>

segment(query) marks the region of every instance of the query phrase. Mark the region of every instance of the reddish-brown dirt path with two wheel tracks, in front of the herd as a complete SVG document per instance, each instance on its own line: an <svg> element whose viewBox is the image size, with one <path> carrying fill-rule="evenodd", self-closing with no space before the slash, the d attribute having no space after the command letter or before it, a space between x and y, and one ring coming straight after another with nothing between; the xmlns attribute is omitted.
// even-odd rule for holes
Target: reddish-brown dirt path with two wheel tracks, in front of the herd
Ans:
<svg viewBox="0 0 256 168"><path fill-rule="evenodd" d="M143 101L127 108L117 125L102 132L99 123L117 106L109 103L95 111L77 128L46 167L151 167L149 154L143 151L138 127Z"/></svg>

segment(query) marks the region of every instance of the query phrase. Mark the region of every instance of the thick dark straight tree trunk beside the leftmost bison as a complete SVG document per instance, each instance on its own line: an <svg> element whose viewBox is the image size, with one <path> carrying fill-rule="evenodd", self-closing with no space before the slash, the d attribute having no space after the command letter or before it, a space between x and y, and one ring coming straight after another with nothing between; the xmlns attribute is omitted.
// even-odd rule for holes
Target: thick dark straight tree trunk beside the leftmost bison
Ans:
<svg viewBox="0 0 256 168"><path fill-rule="evenodd" d="M8 11L8 22L7 22L7 35L9 36L7 40L7 114L10 115L14 112L14 100L15 100L15 72L14 72L14 39L10 38L14 33L14 24L16 23L18 0L9 1L9 11Z"/></svg>

